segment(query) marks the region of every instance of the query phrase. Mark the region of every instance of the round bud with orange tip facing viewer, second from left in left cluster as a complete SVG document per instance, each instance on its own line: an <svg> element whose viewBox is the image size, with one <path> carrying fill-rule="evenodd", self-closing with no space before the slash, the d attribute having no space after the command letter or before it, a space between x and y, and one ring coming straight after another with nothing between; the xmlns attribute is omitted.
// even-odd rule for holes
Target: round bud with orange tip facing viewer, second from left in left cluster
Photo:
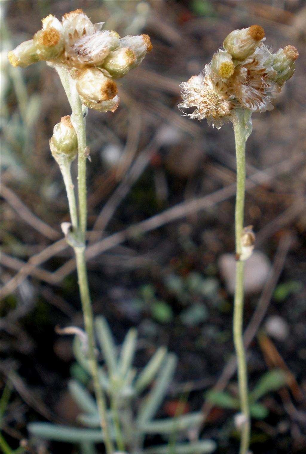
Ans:
<svg viewBox="0 0 306 454"><path fill-rule="evenodd" d="M47 26L39 30L35 33L33 41L40 60L53 60L64 52L64 39L55 27Z"/></svg>

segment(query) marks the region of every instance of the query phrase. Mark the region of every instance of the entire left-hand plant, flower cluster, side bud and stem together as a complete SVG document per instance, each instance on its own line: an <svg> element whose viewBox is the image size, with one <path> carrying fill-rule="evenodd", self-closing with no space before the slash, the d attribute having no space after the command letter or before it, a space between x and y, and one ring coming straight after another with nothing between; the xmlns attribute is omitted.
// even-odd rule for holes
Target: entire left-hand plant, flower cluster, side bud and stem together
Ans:
<svg viewBox="0 0 306 454"><path fill-rule="evenodd" d="M101 30L101 24L92 24L82 10L63 16L62 21L49 15L42 20L42 29L33 39L21 43L8 54L10 63L22 68L44 60L54 67L65 89L72 110L71 116L61 118L50 139L50 149L60 166L67 192L71 227L62 226L67 242L74 248L80 299L88 337L88 360L95 389L107 454L114 452L114 443L106 417L105 395L98 376L93 313L85 261L85 234L87 225L85 115L87 108L99 112L114 112L120 98L114 79L120 79L138 66L150 52L148 35L120 38L113 30ZM70 166L78 156L78 209ZM115 423L117 449L124 450L120 427Z"/></svg>

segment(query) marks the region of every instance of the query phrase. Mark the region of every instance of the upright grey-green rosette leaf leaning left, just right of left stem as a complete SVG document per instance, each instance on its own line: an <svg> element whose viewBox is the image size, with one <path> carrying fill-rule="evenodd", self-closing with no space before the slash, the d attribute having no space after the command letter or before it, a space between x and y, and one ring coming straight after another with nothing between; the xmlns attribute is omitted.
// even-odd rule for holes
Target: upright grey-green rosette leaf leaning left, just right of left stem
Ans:
<svg viewBox="0 0 306 454"><path fill-rule="evenodd" d="M116 370L117 353L110 327L104 317L98 316L95 318L95 328L109 373L113 375Z"/></svg>

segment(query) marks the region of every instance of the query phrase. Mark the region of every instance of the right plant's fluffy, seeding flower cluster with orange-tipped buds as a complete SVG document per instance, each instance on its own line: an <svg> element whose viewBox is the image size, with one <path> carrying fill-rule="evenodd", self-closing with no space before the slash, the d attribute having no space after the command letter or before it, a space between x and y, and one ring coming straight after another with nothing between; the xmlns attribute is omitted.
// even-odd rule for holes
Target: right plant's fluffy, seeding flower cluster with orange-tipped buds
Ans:
<svg viewBox="0 0 306 454"><path fill-rule="evenodd" d="M236 108L252 112L273 109L271 101L293 75L299 54L291 45L272 54L264 39L260 25L232 31L205 70L181 84L183 103L179 107L196 108L186 115L206 118L220 129L235 120Z"/></svg>

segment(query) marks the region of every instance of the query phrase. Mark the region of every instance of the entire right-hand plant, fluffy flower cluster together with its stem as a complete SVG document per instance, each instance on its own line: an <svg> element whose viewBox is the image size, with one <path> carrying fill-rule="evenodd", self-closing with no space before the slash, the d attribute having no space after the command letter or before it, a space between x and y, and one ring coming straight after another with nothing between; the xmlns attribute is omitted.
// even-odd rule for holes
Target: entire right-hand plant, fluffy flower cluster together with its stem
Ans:
<svg viewBox="0 0 306 454"><path fill-rule="evenodd" d="M265 32L260 25L234 30L198 76L181 84L181 109L193 108L186 113L190 118L207 119L208 124L220 129L231 121L236 143L236 288L233 314L233 337L238 366L238 385L241 414L240 454L246 454L250 444L250 410L248 402L246 354L243 345L244 261L251 256L255 236L251 226L243 228L245 197L245 148L251 134L251 114L272 110L275 94L294 74L298 52L287 45L272 54L263 40Z"/></svg>

